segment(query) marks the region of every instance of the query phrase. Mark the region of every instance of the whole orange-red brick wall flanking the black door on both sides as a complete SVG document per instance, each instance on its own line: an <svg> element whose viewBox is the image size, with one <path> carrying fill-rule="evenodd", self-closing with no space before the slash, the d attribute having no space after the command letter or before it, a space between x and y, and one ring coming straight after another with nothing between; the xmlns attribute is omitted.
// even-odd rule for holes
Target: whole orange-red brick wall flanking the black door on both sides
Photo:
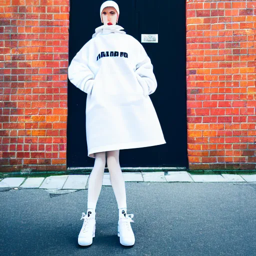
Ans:
<svg viewBox="0 0 256 256"><path fill-rule="evenodd" d="M186 0L190 169L256 168L255 1ZM66 169L68 0L0 0L0 171Z"/></svg>

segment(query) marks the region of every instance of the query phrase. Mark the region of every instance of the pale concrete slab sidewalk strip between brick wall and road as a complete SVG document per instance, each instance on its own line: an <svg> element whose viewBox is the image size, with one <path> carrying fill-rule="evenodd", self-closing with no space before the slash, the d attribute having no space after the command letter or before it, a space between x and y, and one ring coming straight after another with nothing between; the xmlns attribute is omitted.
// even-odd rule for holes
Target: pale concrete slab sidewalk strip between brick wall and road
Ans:
<svg viewBox="0 0 256 256"><path fill-rule="evenodd" d="M191 174L187 171L123 172L126 182L256 182L256 174ZM0 191L11 188L87 189L89 175L68 174L48 177L6 177L0 179ZM111 186L104 173L103 186Z"/></svg>

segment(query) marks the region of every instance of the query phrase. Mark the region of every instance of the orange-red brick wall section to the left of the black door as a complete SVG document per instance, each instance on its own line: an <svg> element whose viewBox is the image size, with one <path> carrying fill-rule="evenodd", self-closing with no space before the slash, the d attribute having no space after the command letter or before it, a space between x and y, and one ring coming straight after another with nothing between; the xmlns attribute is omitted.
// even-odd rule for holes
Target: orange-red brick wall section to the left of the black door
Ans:
<svg viewBox="0 0 256 256"><path fill-rule="evenodd" d="M0 0L0 171L65 170L68 0Z"/></svg>

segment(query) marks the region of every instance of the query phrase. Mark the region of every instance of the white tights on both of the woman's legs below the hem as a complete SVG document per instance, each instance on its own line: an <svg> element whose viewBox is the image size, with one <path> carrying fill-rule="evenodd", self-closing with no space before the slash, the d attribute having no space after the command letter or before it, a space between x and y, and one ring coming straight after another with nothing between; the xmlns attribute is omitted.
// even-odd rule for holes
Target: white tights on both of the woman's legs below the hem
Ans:
<svg viewBox="0 0 256 256"><path fill-rule="evenodd" d="M96 208L106 163L118 208L126 208L125 182L119 164L119 150L95 153L94 166L89 175L87 208Z"/></svg>

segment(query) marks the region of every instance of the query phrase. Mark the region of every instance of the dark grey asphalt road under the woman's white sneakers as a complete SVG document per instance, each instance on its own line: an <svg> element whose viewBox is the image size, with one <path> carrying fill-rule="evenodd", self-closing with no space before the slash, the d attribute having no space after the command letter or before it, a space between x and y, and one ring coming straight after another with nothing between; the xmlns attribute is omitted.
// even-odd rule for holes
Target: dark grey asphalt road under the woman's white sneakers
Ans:
<svg viewBox="0 0 256 256"><path fill-rule="evenodd" d="M117 236L111 186L102 186L96 232L79 246L87 190L0 192L0 255L256 255L256 183L125 182L133 246Z"/></svg>

